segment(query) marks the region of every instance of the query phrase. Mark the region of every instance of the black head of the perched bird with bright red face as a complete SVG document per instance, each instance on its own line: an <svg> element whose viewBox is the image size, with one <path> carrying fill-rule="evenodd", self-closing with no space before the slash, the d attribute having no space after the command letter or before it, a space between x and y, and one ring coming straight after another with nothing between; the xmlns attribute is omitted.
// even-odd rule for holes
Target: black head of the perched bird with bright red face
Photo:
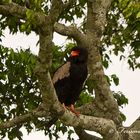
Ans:
<svg viewBox="0 0 140 140"><path fill-rule="evenodd" d="M70 60L74 63L86 63L88 59L88 52L83 47L73 47L70 53Z"/></svg>

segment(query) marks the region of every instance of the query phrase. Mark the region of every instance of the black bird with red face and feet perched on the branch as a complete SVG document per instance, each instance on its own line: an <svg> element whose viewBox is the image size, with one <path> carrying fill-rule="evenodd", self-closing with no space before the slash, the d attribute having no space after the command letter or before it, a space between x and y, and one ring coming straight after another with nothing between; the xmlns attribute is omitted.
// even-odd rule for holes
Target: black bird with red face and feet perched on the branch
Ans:
<svg viewBox="0 0 140 140"><path fill-rule="evenodd" d="M74 103L87 78L87 59L86 48L73 47L69 58L56 70L52 79L59 101L77 116L79 112L75 111Z"/></svg>

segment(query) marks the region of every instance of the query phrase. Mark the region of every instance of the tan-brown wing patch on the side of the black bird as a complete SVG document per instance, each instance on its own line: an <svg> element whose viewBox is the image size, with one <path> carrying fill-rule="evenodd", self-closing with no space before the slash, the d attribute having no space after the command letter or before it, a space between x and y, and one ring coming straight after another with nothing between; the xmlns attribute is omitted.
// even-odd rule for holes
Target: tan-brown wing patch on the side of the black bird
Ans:
<svg viewBox="0 0 140 140"><path fill-rule="evenodd" d="M70 75L69 69L70 62L66 62L64 65L58 68L58 70L54 73L54 76L52 78L53 84L55 84L58 80L68 77Z"/></svg>

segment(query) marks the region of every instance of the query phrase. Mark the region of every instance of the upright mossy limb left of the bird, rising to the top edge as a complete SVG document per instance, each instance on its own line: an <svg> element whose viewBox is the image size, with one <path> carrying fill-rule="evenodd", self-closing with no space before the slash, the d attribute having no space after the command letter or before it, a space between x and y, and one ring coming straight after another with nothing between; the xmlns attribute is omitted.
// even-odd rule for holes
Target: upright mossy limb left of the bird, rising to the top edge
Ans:
<svg viewBox="0 0 140 140"><path fill-rule="evenodd" d="M35 73L37 74L40 91L42 94L42 101L44 109L50 112L56 112L57 115L62 115L64 110L60 105L53 83L51 81L49 68L52 61L52 47L53 47L53 27L57 21L61 11L63 3L61 0L53 0L48 19L46 19L46 27L42 27L40 31L40 49L39 49L39 61L37 63ZM45 29L44 29L45 28ZM57 106L57 110L55 109Z"/></svg>

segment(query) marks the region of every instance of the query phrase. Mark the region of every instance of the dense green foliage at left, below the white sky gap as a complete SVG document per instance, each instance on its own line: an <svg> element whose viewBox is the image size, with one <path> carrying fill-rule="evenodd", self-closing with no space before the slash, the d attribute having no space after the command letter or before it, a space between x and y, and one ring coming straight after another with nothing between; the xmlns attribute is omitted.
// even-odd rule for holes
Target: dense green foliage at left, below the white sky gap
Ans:
<svg viewBox="0 0 140 140"><path fill-rule="evenodd" d="M0 56L0 121L7 121L35 109L41 98L33 74L36 57L30 50L15 53L0 46ZM20 127L7 130L9 139L22 136ZM3 137L5 132L0 132Z"/></svg>

